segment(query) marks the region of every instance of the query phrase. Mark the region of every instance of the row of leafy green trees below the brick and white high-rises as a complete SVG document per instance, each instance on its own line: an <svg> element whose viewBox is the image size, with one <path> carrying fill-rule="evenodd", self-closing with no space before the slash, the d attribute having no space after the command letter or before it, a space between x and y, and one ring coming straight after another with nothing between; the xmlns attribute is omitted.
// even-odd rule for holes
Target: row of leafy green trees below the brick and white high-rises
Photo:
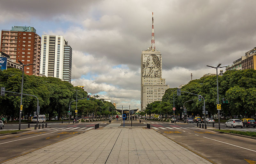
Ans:
<svg viewBox="0 0 256 164"><path fill-rule="evenodd" d="M6 91L21 93L22 71L15 68L0 71L0 86L5 87ZM57 116L58 119L68 117L68 108L71 101L87 97L84 89L75 87L67 81L59 78L38 77L24 74L23 93L35 95L39 99L40 114L48 116L49 120ZM9 120L19 118L20 96L13 96L14 93L5 93L0 96L0 116L7 116ZM104 99L87 98L77 101L78 116L93 116L110 114L115 109L111 102ZM36 111L37 99L33 96L23 95L22 116L33 116ZM109 108L110 107L110 108ZM76 101L71 103L72 115L75 114ZM100 113L99 113L100 112ZM112 114L112 113L111 113Z"/></svg>

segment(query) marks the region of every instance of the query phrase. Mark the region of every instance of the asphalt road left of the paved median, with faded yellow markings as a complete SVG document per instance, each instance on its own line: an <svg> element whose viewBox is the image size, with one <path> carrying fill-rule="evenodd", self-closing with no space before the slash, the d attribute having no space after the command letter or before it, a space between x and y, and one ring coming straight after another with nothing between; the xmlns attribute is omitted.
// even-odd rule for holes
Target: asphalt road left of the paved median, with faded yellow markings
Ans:
<svg viewBox="0 0 256 164"><path fill-rule="evenodd" d="M88 130L94 130L95 124L100 128L108 125L107 121L77 124L51 124L51 128L29 130L18 134L0 136L0 163L44 146L73 137Z"/></svg>

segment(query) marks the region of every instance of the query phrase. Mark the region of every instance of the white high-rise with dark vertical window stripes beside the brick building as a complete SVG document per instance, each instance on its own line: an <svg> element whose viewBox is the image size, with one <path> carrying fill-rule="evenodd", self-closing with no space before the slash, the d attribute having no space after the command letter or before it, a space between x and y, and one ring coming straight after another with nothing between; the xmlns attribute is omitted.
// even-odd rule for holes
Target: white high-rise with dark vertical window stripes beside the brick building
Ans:
<svg viewBox="0 0 256 164"><path fill-rule="evenodd" d="M41 44L40 73L71 82L72 48L68 42L60 35L42 35Z"/></svg>

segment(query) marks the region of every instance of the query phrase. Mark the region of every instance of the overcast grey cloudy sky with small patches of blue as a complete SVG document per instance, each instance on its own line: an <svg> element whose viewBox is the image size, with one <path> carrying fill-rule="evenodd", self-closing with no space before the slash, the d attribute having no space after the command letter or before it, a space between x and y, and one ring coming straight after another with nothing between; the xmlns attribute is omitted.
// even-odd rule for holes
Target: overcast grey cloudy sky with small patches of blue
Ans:
<svg viewBox="0 0 256 164"><path fill-rule="evenodd" d="M152 12L163 78L178 87L256 47L256 1L8 0L0 25L33 26L63 35L73 48L72 84L117 103L140 107L140 56L151 44ZM73 80L75 76L75 81Z"/></svg>

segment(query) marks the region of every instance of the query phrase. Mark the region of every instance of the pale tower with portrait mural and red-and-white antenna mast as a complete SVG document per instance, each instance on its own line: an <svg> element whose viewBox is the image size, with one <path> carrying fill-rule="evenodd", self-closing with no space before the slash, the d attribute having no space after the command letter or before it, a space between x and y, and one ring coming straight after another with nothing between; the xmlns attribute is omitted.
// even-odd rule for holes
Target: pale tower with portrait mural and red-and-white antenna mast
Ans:
<svg viewBox="0 0 256 164"><path fill-rule="evenodd" d="M141 53L141 97L140 109L143 111L147 104L154 101L161 101L165 90L169 85L165 85L162 78L162 56L160 51L156 51L154 19L152 13L152 40L151 47Z"/></svg>

